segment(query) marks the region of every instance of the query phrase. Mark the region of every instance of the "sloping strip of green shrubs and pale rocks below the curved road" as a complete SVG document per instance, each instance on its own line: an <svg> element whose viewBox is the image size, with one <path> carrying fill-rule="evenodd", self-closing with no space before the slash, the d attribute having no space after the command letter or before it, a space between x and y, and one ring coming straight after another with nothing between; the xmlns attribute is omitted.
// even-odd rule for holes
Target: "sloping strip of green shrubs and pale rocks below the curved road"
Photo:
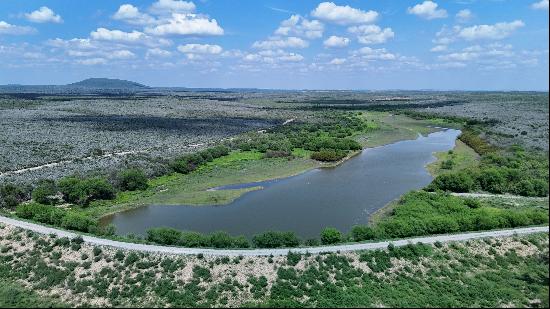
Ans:
<svg viewBox="0 0 550 309"><path fill-rule="evenodd" d="M548 307L548 235L213 257L1 226L0 275L8 307Z"/></svg>

